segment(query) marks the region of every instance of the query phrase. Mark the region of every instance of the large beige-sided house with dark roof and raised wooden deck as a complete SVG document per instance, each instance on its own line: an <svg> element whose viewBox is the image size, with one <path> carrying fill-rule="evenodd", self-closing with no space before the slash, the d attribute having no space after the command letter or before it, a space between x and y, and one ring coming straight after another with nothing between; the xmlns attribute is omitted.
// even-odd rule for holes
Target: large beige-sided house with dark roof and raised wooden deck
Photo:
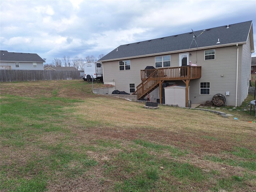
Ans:
<svg viewBox="0 0 256 192"><path fill-rule="evenodd" d="M240 106L248 96L252 52L247 21L121 45L99 61L104 83L137 99L164 103L164 87L178 84L186 86L186 106L204 104L215 94L223 94L226 105Z"/></svg>

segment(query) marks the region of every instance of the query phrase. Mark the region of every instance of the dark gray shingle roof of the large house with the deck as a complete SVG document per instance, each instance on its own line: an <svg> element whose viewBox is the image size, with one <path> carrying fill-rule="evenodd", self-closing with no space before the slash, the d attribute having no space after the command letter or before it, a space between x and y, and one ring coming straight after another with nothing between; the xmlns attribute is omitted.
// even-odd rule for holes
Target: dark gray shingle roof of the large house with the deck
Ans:
<svg viewBox="0 0 256 192"><path fill-rule="evenodd" d="M202 33L203 32L203 33ZM220 47L232 44L246 43L250 34L251 50L254 52L252 21L230 24L221 27L195 31L198 47L193 40L193 33L177 34L173 36L146 40L131 44L121 45L102 57L99 61L110 61L124 58L169 54L181 51ZM202 33L202 34L201 34ZM200 35L200 36L199 36ZM218 42L219 39L219 42ZM192 44L191 44L192 43ZM191 45L191 46L190 46Z"/></svg>

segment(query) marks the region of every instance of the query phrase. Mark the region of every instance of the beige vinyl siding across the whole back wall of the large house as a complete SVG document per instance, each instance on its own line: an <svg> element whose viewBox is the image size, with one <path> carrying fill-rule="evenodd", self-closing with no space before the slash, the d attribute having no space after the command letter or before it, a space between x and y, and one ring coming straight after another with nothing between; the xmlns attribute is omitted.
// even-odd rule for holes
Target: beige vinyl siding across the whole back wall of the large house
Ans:
<svg viewBox="0 0 256 192"><path fill-rule="evenodd" d="M241 45L239 46L239 50L241 53ZM248 50L244 50L244 52L248 52ZM214 60L204 60L204 50L190 51L189 54L191 54L191 56L189 56L188 60L191 61L192 64L197 64L198 66L202 67L202 77L200 79L190 80L189 83L189 99L191 100L192 104L204 104L207 100L212 100L212 97L215 94L223 94L226 98L226 105L235 106L237 47L228 46L215 48ZM180 53L171 54L171 67L179 66L179 56ZM247 58L247 56L245 56L245 58ZM239 56L239 60L240 59L241 56ZM120 71L118 61L103 62L104 82L111 82L114 79L114 84L117 90L129 93L130 83L134 83L135 87L141 83L140 70L145 69L146 66L155 66L155 56L134 58L130 60L130 63L130 70ZM240 71L241 69L239 68L238 91L240 90L239 87L241 86L241 81L239 80L241 76ZM223 77L221 77L222 75ZM200 95L200 82L210 82L210 95ZM169 83L185 85L182 81L172 81ZM230 92L228 97L226 96L227 91ZM240 94L238 92L238 96L239 95ZM151 96L152 100L156 100L156 98L159 97L158 88L150 93L150 98ZM238 105L241 104L240 100L241 99L239 98Z"/></svg>

